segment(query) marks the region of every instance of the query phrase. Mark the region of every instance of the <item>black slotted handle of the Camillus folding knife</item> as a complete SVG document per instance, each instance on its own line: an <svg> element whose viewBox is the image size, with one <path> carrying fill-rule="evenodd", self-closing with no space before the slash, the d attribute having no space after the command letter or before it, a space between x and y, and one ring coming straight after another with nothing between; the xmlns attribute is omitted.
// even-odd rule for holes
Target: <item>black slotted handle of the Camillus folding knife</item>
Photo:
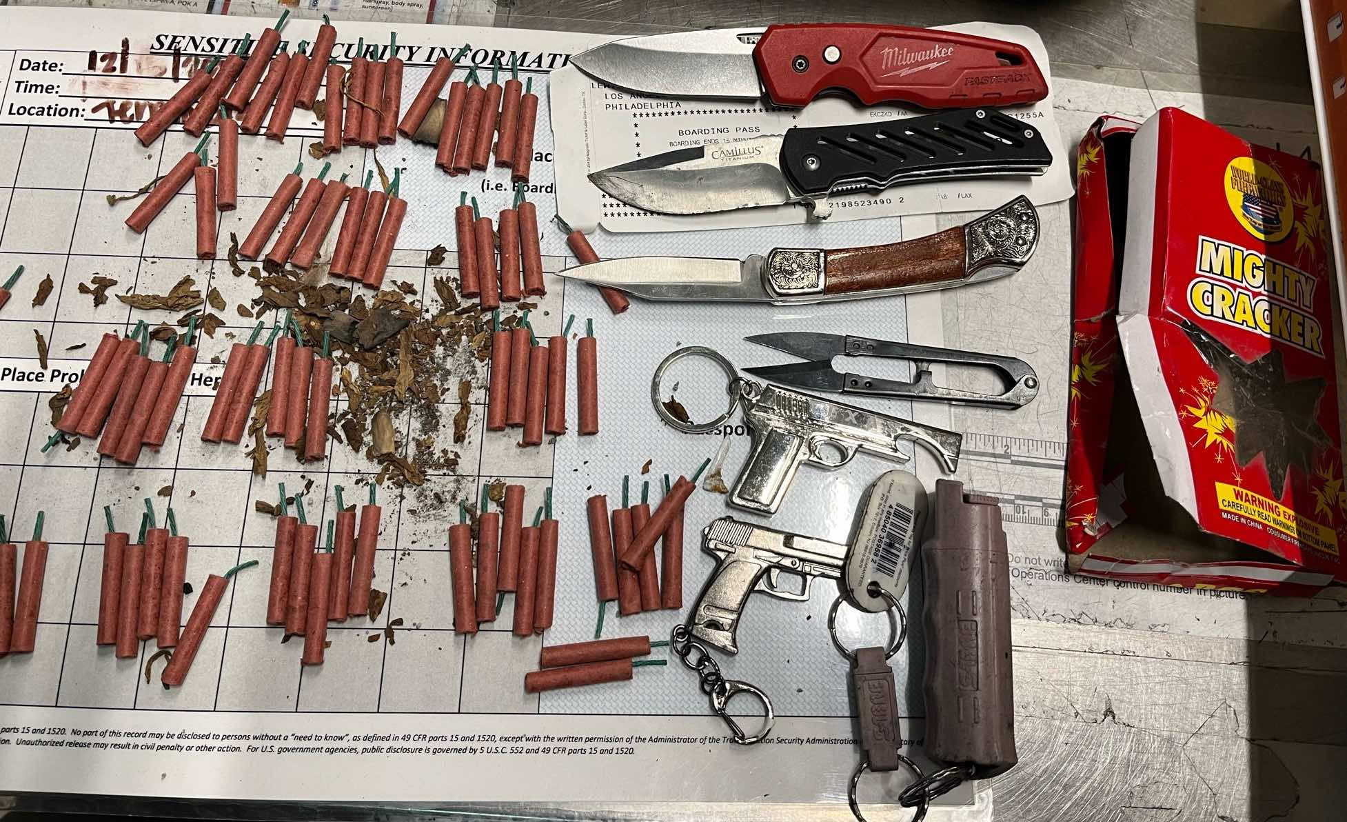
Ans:
<svg viewBox="0 0 1347 822"><path fill-rule="evenodd" d="M792 128L781 141L780 159L799 194L826 194L925 179L1043 174L1052 152L1037 128L979 108Z"/></svg>

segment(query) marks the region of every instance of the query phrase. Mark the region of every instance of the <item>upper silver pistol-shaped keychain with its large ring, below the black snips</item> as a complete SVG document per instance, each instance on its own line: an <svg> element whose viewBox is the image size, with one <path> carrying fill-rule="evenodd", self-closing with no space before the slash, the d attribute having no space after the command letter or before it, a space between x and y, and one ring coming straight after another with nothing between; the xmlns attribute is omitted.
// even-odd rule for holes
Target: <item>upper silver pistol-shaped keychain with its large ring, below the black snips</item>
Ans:
<svg viewBox="0 0 1347 822"><path fill-rule="evenodd" d="M674 416L660 402L660 381L668 368L688 356L706 357L725 371L730 380L730 406L709 423L692 423ZM785 491L801 464L824 469L842 468L866 451L894 462L909 457L898 447L901 439L919 442L929 449L946 473L959 466L963 435L935 426L925 426L869 408L745 380L719 352L691 345L664 357L651 380L651 402L660 419L688 434L703 434L727 422L744 407L744 422L753 433L753 453L740 478L730 489L730 504L761 513L776 513Z"/></svg>

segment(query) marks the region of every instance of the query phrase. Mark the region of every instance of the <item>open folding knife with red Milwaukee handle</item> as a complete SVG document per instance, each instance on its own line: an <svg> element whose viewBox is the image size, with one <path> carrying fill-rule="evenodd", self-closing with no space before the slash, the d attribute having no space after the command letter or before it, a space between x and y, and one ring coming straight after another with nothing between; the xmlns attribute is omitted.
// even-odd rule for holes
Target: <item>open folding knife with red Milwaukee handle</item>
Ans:
<svg viewBox="0 0 1347 822"><path fill-rule="evenodd" d="M865 105L1017 105L1048 96L1018 43L954 31L804 23L613 40L571 58L590 77L637 94L757 100L800 108L842 90Z"/></svg>

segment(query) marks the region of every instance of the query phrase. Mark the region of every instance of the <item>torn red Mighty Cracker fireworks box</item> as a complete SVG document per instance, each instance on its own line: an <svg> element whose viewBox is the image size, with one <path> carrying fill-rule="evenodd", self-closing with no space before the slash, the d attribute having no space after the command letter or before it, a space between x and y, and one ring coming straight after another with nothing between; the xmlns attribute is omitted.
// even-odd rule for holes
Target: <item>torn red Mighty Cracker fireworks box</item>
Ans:
<svg viewBox="0 0 1347 822"><path fill-rule="evenodd" d="M1071 571L1307 594L1347 578L1319 167L1167 108L1076 162Z"/></svg>

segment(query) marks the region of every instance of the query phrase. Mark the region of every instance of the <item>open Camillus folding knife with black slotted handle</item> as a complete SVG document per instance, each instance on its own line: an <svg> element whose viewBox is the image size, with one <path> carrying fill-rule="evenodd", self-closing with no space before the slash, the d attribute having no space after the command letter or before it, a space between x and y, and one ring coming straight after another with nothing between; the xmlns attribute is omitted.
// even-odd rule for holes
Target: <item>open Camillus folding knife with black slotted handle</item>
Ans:
<svg viewBox="0 0 1347 822"><path fill-rule="evenodd" d="M594 171L610 197L660 214L706 214L799 202L824 220L828 198L970 177L1041 175L1052 152L1036 128L994 109L695 146Z"/></svg>

